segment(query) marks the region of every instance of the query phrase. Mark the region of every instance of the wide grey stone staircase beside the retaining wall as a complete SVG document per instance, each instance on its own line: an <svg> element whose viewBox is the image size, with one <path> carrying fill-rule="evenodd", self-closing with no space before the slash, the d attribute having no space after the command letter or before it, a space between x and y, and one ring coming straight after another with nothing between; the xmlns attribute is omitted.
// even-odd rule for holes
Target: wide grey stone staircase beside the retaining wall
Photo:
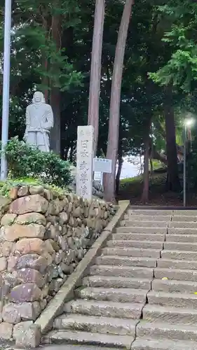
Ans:
<svg viewBox="0 0 197 350"><path fill-rule="evenodd" d="M43 342L196 350L197 211L129 209L75 296Z"/></svg>

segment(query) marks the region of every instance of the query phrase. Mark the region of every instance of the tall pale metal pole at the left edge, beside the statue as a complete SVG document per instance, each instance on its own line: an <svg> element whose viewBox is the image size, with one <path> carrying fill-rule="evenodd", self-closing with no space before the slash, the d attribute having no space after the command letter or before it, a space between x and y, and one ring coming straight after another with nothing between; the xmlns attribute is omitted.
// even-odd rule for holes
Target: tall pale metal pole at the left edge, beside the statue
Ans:
<svg viewBox="0 0 197 350"><path fill-rule="evenodd" d="M7 162L4 148L8 142L9 99L10 99L10 69L11 69L11 6L12 0L5 0L4 20L4 80L1 131L1 181L6 180Z"/></svg>

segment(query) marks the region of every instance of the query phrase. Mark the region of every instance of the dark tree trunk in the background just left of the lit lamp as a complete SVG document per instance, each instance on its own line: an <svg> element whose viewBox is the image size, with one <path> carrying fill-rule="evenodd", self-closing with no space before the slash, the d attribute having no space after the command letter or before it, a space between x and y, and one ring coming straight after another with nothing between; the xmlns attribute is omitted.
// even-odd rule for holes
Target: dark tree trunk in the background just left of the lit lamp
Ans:
<svg viewBox="0 0 197 350"><path fill-rule="evenodd" d="M168 190L178 191L180 189L179 173L177 165L177 145L175 135L175 115L172 99L172 89L167 87L165 90L165 134L166 150L168 160Z"/></svg>

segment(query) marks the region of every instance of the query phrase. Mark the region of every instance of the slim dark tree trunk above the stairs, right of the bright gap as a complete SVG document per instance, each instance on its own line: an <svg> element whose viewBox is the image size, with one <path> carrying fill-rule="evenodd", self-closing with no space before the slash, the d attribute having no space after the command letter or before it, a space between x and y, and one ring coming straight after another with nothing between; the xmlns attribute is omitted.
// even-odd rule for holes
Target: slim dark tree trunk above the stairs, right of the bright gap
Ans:
<svg viewBox="0 0 197 350"><path fill-rule="evenodd" d="M149 131L150 131L151 120L147 125L147 134L144 137L144 183L142 192L142 204L149 202Z"/></svg>

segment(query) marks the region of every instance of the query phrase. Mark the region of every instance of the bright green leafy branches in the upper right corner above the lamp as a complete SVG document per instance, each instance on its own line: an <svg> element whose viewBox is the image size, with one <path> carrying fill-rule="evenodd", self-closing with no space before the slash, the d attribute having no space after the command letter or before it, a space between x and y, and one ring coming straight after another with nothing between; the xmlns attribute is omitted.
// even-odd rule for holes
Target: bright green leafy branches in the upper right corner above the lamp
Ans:
<svg viewBox="0 0 197 350"><path fill-rule="evenodd" d="M167 5L158 6L158 13L162 13L165 22L172 23L163 34L163 42L170 48L171 57L149 76L160 85L170 84L190 92L197 80L197 3L190 0L168 1Z"/></svg>

